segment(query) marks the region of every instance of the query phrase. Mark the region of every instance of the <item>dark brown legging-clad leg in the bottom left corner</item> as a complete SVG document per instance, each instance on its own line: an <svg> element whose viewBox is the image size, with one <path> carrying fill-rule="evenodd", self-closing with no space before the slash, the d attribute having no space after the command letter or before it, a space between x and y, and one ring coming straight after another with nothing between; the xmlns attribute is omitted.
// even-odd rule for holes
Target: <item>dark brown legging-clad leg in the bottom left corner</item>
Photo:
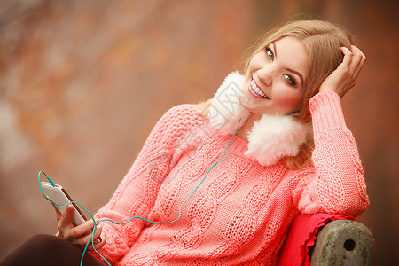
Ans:
<svg viewBox="0 0 399 266"><path fill-rule="evenodd" d="M51 235L34 235L5 257L0 266L67 265L79 266L82 248ZM105 266L90 254L84 254L83 266Z"/></svg>

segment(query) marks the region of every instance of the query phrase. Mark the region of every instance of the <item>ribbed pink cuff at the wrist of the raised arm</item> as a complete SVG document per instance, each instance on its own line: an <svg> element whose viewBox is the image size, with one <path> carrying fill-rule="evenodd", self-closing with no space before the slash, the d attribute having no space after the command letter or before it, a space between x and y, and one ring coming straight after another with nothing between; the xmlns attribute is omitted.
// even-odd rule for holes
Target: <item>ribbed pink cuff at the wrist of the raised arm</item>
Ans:
<svg viewBox="0 0 399 266"><path fill-rule="evenodd" d="M332 91L317 93L309 101L309 109L312 113L313 129L315 137L325 132L326 129L347 129L345 119L340 106L340 96Z"/></svg>

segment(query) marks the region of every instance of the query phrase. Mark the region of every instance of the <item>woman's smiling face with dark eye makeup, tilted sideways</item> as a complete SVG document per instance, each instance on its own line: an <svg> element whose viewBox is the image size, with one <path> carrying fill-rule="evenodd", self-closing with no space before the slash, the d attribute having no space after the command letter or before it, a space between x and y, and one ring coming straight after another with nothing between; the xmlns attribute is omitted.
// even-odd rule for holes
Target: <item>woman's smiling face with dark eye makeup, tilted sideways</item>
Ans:
<svg viewBox="0 0 399 266"><path fill-rule="evenodd" d="M242 106L256 116L299 111L308 66L308 52L298 39L286 36L270 43L249 61Z"/></svg>

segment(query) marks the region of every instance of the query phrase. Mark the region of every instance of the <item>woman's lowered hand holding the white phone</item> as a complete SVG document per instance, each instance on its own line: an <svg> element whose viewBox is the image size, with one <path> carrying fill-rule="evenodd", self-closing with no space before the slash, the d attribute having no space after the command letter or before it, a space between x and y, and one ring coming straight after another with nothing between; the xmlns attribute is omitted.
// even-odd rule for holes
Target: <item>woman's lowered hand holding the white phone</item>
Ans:
<svg viewBox="0 0 399 266"><path fill-rule="evenodd" d="M72 206L72 204L69 204L66 207L63 214L59 212L59 209L57 207L53 207L56 210L57 214L57 228L59 230L59 238L66 239L77 246L86 246L91 236L90 230L94 228L93 220L90 219L85 223L74 226L74 224L72 223L72 218L74 215L74 207ZM106 244L106 239L104 238L104 235L101 235L101 231L102 228L98 226L93 236L93 239L95 239L94 247L96 249L100 249ZM101 239L98 239L98 237L100 236ZM91 240L90 245L88 246L88 250L94 250L93 246L91 245Z"/></svg>

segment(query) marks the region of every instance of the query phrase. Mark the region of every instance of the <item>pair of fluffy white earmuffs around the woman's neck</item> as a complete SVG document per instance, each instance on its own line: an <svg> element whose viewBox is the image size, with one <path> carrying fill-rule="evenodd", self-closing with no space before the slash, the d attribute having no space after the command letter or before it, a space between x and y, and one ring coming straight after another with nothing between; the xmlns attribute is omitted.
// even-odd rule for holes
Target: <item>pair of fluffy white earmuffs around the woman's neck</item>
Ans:
<svg viewBox="0 0 399 266"><path fill-rule="evenodd" d="M240 103L244 82L245 77L238 72L229 74L211 101L210 124L223 135L233 134L239 120L243 125L250 114ZM291 116L263 114L248 132L245 155L262 166L273 165L284 157L298 155L307 134L307 124Z"/></svg>

